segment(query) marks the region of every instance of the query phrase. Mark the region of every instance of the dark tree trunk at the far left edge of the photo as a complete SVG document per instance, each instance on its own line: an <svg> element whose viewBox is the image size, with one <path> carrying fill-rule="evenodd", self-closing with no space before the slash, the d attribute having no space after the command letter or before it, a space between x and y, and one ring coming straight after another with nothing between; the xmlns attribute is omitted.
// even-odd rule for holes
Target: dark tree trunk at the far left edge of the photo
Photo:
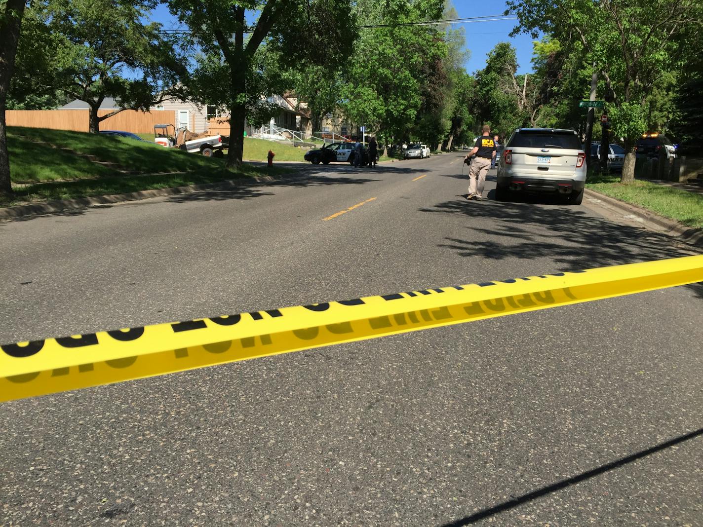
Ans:
<svg viewBox="0 0 703 527"><path fill-rule="evenodd" d="M24 13L25 0L7 0L4 9L0 11L0 195L12 193L5 108Z"/></svg>

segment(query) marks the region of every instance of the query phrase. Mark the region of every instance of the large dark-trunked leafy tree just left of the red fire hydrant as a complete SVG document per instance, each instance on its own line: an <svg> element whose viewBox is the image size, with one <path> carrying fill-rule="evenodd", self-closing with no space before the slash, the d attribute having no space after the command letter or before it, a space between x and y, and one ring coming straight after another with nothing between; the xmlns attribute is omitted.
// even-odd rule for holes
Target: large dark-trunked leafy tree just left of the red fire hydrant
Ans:
<svg viewBox="0 0 703 527"><path fill-rule="evenodd" d="M188 89L229 114L227 166L242 163L244 126L270 115L266 96L286 86L284 63L329 63L351 50L349 0L169 0L169 9L191 31L201 55ZM247 24L247 11L258 13ZM262 45L263 44L263 45ZM320 52L326 53L321 57Z"/></svg>

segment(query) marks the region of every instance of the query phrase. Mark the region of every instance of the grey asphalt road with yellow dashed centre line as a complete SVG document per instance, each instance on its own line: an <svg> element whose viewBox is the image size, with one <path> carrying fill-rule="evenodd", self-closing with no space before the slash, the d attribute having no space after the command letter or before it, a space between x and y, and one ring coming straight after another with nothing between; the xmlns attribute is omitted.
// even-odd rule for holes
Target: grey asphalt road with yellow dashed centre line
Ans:
<svg viewBox="0 0 703 527"><path fill-rule="evenodd" d="M461 170L0 222L0 341L692 254ZM701 525L702 321L698 284L4 403L0 525Z"/></svg>

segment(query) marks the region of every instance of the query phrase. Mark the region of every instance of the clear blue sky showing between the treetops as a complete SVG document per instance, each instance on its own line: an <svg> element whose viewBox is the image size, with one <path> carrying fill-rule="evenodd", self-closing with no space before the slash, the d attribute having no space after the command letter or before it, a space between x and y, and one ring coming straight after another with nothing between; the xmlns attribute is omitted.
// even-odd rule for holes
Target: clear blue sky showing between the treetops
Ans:
<svg viewBox="0 0 703 527"><path fill-rule="evenodd" d="M486 15L502 15L505 1L480 2L475 0L454 0L454 7L459 18ZM167 29L179 28L179 22L171 16L165 4L159 4L154 11L153 20L161 22ZM520 34L510 38L508 34L515 27L517 20L496 20L493 22L470 22L463 24L466 30L466 48L471 52L465 67L468 73L481 70L486 65L486 53L491 51L498 42L508 41L517 50L518 73L529 73L532 70L532 39L529 35ZM458 26L454 26L458 27Z"/></svg>

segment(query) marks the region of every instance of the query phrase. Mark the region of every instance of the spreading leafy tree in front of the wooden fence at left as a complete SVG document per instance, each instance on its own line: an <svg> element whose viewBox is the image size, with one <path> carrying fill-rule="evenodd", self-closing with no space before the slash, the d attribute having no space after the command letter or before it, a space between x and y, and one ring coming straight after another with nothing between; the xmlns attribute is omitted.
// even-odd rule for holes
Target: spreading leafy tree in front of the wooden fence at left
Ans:
<svg viewBox="0 0 703 527"><path fill-rule="evenodd" d="M50 0L49 29L61 35L56 86L89 106L89 130L128 108L147 111L177 95L186 62L174 39L156 22L145 23L152 0ZM120 108L98 117L105 97Z"/></svg>

